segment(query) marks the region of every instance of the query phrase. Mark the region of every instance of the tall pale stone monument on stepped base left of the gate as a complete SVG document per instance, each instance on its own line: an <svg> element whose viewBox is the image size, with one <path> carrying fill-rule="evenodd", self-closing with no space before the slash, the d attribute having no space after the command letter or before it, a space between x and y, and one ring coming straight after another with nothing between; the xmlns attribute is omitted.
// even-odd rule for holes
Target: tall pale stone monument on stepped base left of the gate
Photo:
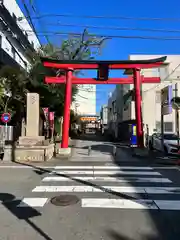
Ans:
<svg viewBox="0 0 180 240"><path fill-rule="evenodd" d="M3 160L29 162L50 160L54 155L54 144L48 139L45 140L44 136L39 136L39 94L27 94L26 112L26 134L19 137L18 144L5 148Z"/></svg>

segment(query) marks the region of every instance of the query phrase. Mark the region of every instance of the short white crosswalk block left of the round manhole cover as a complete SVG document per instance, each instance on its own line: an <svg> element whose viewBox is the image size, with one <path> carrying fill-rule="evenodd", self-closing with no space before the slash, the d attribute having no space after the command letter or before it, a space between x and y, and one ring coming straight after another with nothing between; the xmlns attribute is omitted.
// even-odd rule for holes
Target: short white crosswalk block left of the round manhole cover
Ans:
<svg viewBox="0 0 180 240"><path fill-rule="evenodd" d="M48 198L23 198L18 207L43 207Z"/></svg>

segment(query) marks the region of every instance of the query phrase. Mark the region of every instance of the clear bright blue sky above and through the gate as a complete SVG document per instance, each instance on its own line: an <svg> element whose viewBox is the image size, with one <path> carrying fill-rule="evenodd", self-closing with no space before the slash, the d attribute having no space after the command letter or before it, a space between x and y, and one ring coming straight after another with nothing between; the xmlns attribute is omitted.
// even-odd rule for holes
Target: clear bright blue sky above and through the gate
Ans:
<svg viewBox="0 0 180 240"><path fill-rule="evenodd" d="M39 14L73 14L73 15L105 15L105 16L126 16L126 17L149 17L149 18L179 18L180 2L178 0L32 0ZM22 1L18 0L21 4ZM29 1L26 0L28 3ZM178 29L179 32L144 32L144 31L116 31L89 29L90 33L105 35L126 35L126 36L161 36L161 37L179 37L180 38L180 20L179 21L138 21L121 19L82 19L82 18L43 18L41 22L34 20L38 31L62 31L62 32L82 32L82 27L63 27L51 26L50 23L61 24L80 24L96 26L113 26L129 28L153 28L153 29ZM61 37L62 38L62 37ZM61 38L50 37L50 41L56 44ZM42 42L45 39L41 37ZM180 40L141 40L141 39L111 39L108 40L102 49L101 56L98 59L103 60L121 60L127 59L130 54L180 54ZM114 73L113 76L118 76ZM97 85L97 103L96 108L107 103L108 94L114 88L113 85Z"/></svg>

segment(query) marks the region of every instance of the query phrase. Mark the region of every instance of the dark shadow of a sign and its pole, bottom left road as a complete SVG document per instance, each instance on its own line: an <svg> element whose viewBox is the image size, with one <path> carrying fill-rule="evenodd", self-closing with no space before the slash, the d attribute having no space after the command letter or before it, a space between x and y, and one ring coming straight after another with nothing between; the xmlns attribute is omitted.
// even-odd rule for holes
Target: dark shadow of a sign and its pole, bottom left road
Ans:
<svg viewBox="0 0 180 240"><path fill-rule="evenodd" d="M31 221L31 218L41 216L41 213L36 209L24 205L21 200L9 193L0 193L1 204L9 210L19 220L24 220L29 226L31 226L36 232L38 232L45 240L53 240L44 231L42 231L35 223ZM23 204L23 206L20 206Z"/></svg>

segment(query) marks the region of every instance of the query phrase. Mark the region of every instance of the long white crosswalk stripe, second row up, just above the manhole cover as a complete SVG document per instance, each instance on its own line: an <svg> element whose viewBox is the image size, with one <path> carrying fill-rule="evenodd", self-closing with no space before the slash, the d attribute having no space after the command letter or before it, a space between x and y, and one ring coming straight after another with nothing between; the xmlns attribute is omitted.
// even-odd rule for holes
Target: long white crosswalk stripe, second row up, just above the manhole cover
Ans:
<svg viewBox="0 0 180 240"><path fill-rule="evenodd" d="M37 186L32 192L108 192L180 194L180 188L174 187L120 187L120 186Z"/></svg>

